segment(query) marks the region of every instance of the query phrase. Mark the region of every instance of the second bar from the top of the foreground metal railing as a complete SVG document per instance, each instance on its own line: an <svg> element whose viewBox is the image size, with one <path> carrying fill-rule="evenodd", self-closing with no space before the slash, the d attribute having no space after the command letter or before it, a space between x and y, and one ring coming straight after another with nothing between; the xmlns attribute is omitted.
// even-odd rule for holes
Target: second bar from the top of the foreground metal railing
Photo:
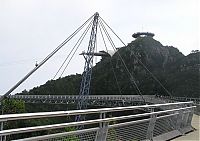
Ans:
<svg viewBox="0 0 200 141"><path fill-rule="evenodd" d="M174 112L174 111L189 109L189 108L193 108L193 107L195 107L195 106L179 108L179 109L172 109L172 110L165 110L165 111L159 111L159 112L152 112L152 113L144 113L144 114L137 114L137 115L105 118L105 119L95 119L95 120L80 121L80 122L71 122L71 123L61 123L61 124L17 128L17 129L8 129L8 130L0 131L0 136L2 136L2 135L5 136L5 135L9 135L9 134L18 134L18 133L41 131L41 130L58 129L58 128L71 127L71 126L95 124L95 123L101 123L101 122L117 121L117 120L123 120L123 119L130 119L130 118L138 117L138 115L140 115L140 117L142 117L142 116L148 116L148 115L153 115L153 114L162 114L162 113L167 113L167 112Z"/></svg>

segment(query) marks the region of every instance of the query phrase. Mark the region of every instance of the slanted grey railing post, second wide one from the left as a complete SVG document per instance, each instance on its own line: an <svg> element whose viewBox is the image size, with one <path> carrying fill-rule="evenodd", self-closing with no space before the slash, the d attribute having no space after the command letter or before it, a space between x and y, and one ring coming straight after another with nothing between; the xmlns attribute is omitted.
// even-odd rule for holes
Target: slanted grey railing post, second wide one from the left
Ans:
<svg viewBox="0 0 200 141"><path fill-rule="evenodd" d="M150 112L154 112L154 107L151 107L150 108ZM156 124L156 117L157 115L156 114L153 114L150 116L150 121L149 121L149 126L148 126L148 129L147 129L147 136L146 138L150 141L153 141L153 130L154 130L154 127L155 127L155 124Z"/></svg>

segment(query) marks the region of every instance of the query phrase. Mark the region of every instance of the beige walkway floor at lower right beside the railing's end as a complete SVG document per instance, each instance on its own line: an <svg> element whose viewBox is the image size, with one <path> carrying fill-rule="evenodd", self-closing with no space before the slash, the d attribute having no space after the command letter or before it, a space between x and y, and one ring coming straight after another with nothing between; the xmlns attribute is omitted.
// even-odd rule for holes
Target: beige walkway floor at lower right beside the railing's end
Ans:
<svg viewBox="0 0 200 141"><path fill-rule="evenodd" d="M171 141L200 141L200 116L193 115L192 127L194 127L196 130Z"/></svg>

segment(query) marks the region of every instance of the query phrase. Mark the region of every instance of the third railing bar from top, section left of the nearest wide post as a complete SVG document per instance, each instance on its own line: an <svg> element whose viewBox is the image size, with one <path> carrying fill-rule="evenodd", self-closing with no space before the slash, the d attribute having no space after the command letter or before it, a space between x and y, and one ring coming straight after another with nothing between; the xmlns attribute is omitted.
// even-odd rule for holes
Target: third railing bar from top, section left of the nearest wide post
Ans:
<svg viewBox="0 0 200 141"><path fill-rule="evenodd" d="M24 139L18 139L13 141L38 141L38 140L45 140L45 139L52 139L52 138L61 138L64 136L70 136L70 135L78 135L82 133L88 133L88 132L95 132L98 131L98 128L90 128L90 129L84 129L84 130L76 130L76 131L69 131L64 133L56 133L56 134L50 134L50 135L43 135L43 136L36 136L36 137L30 137L30 138L24 138Z"/></svg>

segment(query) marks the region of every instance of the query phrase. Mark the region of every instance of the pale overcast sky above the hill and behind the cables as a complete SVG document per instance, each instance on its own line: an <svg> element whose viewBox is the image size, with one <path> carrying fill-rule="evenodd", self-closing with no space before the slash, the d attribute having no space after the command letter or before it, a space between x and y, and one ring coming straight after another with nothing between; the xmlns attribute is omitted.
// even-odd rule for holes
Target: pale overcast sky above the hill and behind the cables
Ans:
<svg viewBox="0 0 200 141"><path fill-rule="evenodd" d="M187 55L199 48L199 9L199 0L0 0L0 95L95 12L126 44L134 32L149 31L163 45ZM13 93L52 79L74 43ZM78 53L87 44L86 39ZM83 66L83 57L76 54L64 76L82 73Z"/></svg>

